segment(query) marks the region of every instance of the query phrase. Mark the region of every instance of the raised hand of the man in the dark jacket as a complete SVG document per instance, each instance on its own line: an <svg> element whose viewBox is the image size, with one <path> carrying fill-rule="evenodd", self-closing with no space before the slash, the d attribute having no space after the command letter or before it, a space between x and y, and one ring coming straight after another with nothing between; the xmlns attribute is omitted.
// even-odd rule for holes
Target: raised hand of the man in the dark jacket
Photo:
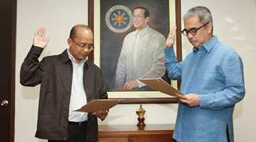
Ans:
<svg viewBox="0 0 256 142"><path fill-rule="evenodd" d="M38 46L40 48L46 48L50 38L46 38L46 28L40 27L37 29L34 38L33 45Z"/></svg>

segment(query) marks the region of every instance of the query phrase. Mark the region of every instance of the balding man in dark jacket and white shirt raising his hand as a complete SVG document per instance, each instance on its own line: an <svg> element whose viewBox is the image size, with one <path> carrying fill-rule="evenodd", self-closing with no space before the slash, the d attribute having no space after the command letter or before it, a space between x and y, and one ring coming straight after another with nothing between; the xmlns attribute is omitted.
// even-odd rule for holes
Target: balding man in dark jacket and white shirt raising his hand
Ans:
<svg viewBox="0 0 256 142"><path fill-rule="evenodd" d="M21 66L21 84L41 84L36 137L49 142L97 141L97 118L104 120L108 111L74 111L92 99L107 99L100 68L86 59L94 49L92 31L85 25L74 26L70 48L38 62L48 41L46 29L38 28Z"/></svg>

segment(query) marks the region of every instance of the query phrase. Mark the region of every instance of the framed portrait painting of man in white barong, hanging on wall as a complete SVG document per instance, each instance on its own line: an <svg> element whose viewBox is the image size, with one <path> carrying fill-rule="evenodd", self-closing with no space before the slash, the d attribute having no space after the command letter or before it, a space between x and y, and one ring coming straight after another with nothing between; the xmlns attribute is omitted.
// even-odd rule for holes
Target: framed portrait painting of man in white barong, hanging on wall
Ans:
<svg viewBox="0 0 256 142"><path fill-rule="evenodd" d="M156 44L154 46L161 46L161 50L165 48L165 39L169 34L171 25L173 25L175 21L175 6L174 0L95 0L94 7L99 9L99 11L95 11L98 16L94 16L95 45L98 47L98 50L95 50L97 53L94 54L95 63L98 64L102 70L102 78L105 81L109 98L124 99L124 104L131 104L133 102L177 102L176 97L170 97L169 95L162 94L161 92L157 92L143 84L129 90L123 88L125 82L130 80L127 79L130 76L137 76L137 78L133 79L139 80L140 78L143 78L141 76L147 72L146 70L151 70L150 67L153 66L155 62L160 62L161 65L164 65L164 60L159 59L164 52L161 51L162 53L159 53L158 55L157 50L151 50L151 45L153 46L157 42L163 43L164 39L164 45L159 43L159 45ZM149 20L146 21L146 27L150 28L151 31L154 31L156 35L161 35L161 41L159 41L158 36L153 33L149 34L149 38L146 41L144 41L144 38L137 38L135 39L136 41L134 38L125 40L127 35L136 34L138 31L136 19L146 19L147 17L145 14L134 14L134 9L138 7L146 8L149 11ZM93 14L95 15L95 13ZM137 43L140 43L140 45L136 45ZM135 59L133 56L132 58L129 57L129 60L125 56L122 58L122 54L127 52L127 50L124 51L124 49L122 49L124 48L124 44L132 47L129 49L132 49L132 54L138 54L136 61L134 61ZM137 48L142 47L144 50L137 50ZM149 53L149 51L151 53ZM153 60L156 57L157 59ZM164 57L161 58L164 59ZM122 60L126 60L126 64L119 65ZM128 65L129 62L132 62L132 65ZM124 73L122 72L122 80L118 78L118 81L122 81L122 83L117 85L117 76L121 76L120 72L118 72L119 66L125 66L127 68L121 69ZM165 69L161 69L160 65L156 65L155 68L158 75L155 75L155 72L153 72L149 77L162 77L166 82L177 87L176 82L171 82L167 77ZM159 73L160 69L161 73ZM131 75L127 75L129 74L129 70L132 70L130 71L132 72ZM144 70L144 72L141 73L142 70Z"/></svg>

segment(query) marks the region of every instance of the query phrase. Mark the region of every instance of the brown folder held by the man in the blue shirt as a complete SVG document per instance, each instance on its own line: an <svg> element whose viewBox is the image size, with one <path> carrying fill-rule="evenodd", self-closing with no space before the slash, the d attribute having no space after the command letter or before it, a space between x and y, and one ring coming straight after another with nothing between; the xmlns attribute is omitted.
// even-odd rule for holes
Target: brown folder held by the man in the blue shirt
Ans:
<svg viewBox="0 0 256 142"><path fill-rule="evenodd" d="M156 79L140 79L139 81L143 82L144 84L148 85L152 89L158 90L163 92L164 94L169 94L173 97L177 97L176 94L182 94L178 91L178 89L172 87L170 84L162 80L161 78Z"/></svg>

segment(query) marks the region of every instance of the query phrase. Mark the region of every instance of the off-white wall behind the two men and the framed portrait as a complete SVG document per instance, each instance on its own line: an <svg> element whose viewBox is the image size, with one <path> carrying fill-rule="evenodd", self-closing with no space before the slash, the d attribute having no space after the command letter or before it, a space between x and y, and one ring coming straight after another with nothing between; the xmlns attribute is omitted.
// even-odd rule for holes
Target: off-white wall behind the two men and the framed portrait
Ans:
<svg viewBox="0 0 256 142"><path fill-rule="evenodd" d="M95 0L95 6L99 4ZM19 70L21 62L31 47L33 34L38 26L47 28L50 36L48 48L42 56L61 53L68 48L67 38L70 28L78 23L87 24L87 1L77 0L18 0L17 8L17 45L16 45L16 130L15 141L40 141L34 138L38 111L38 87L22 87L19 84ZM255 65L256 60L255 39L255 1L254 0L182 0L181 12L193 6L208 6L213 14L214 34L218 39L230 45L240 54L244 62L246 96L235 107L234 125L235 141L252 141L256 126L256 113L253 109L256 91ZM95 9L95 20L99 15L99 9ZM95 24L96 24L95 23ZM97 38L97 26L95 26L95 43ZM191 45L183 37L183 58L191 52ZM99 47L99 45L95 45ZM95 57L99 56L99 50L95 49ZM98 65L98 58L95 58ZM143 104L146 109L146 124L171 124L176 119L176 104ZM109 116L100 124L137 124L136 109L139 104L122 104L111 109Z"/></svg>

